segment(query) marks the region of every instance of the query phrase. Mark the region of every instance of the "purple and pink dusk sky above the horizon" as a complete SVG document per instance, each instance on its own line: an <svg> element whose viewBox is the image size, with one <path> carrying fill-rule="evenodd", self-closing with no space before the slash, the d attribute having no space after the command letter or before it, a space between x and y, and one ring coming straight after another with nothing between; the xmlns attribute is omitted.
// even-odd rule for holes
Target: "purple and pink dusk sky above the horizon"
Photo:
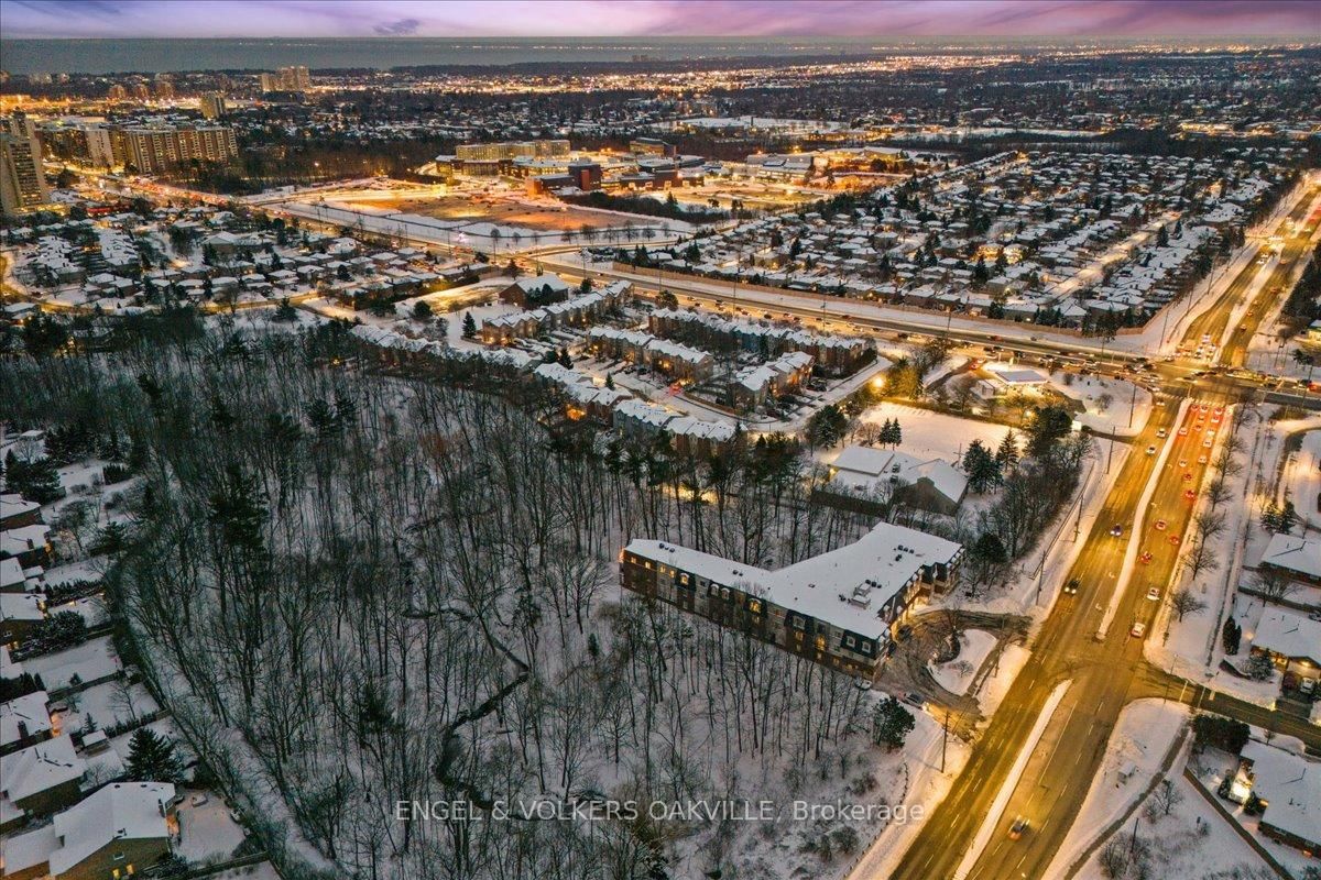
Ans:
<svg viewBox="0 0 1321 880"><path fill-rule="evenodd" d="M0 0L5 37L501 36L1321 40L1316 0Z"/></svg>

